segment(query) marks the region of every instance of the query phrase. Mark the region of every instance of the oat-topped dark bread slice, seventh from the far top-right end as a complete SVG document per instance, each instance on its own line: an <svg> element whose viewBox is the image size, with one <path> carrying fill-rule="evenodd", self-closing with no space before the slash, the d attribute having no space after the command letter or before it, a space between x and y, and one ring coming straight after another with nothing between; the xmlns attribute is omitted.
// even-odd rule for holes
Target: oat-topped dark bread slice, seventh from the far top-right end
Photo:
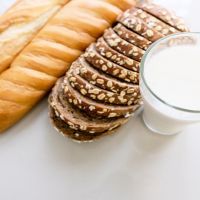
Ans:
<svg viewBox="0 0 200 200"><path fill-rule="evenodd" d="M83 57L80 57L72 66L75 66L78 75L99 88L117 93L125 92L126 95L133 95L140 91L138 85L121 82L114 77L94 69Z"/></svg>

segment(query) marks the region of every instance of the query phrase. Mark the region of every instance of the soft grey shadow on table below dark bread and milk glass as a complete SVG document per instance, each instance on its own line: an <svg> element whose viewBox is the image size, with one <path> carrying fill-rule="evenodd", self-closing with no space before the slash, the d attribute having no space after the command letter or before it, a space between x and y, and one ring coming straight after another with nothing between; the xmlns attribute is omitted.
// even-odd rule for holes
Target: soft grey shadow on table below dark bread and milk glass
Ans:
<svg viewBox="0 0 200 200"><path fill-rule="evenodd" d="M141 117L131 119L128 124L120 128L117 133L104 137L92 143L75 143L67 137L57 133L51 126L46 127L46 142L52 155L58 160L74 163L90 163L101 157L112 156L119 149L126 149L130 155L141 157L148 156L157 151L162 151L173 137L165 137L153 134L144 127Z"/></svg>

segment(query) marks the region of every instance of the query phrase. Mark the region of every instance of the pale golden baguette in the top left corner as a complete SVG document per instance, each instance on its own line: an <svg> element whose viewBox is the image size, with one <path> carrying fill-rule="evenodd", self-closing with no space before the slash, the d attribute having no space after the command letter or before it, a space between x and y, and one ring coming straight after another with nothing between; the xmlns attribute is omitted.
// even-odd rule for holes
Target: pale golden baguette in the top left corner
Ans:
<svg viewBox="0 0 200 200"><path fill-rule="evenodd" d="M0 17L0 73L69 0L18 0Z"/></svg>

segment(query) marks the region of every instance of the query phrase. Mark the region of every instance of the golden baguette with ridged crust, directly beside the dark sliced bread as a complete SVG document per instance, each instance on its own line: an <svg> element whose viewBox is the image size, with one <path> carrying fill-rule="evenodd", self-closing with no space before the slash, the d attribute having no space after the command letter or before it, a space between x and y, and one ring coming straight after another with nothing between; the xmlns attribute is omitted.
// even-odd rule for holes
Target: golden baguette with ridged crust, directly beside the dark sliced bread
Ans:
<svg viewBox="0 0 200 200"><path fill-rule="evenodd" d="M0 94L4 93L0 96L0 132L22 118L82 51L134 2L73 0L63 7L0 75L0 82L4 82L0 88Z"/></svg>

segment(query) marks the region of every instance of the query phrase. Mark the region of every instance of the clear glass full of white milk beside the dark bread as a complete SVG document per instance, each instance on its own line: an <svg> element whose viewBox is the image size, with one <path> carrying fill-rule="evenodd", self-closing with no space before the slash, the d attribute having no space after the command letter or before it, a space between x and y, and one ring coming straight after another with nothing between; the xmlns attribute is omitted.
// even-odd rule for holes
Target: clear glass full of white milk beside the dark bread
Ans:
<svg viewBox="0 0 200 200"><path fill-rule="evenodd" d="M141 63L140 89L151 131L173 135L200 122L200 33L155 42Z"/></svg>

